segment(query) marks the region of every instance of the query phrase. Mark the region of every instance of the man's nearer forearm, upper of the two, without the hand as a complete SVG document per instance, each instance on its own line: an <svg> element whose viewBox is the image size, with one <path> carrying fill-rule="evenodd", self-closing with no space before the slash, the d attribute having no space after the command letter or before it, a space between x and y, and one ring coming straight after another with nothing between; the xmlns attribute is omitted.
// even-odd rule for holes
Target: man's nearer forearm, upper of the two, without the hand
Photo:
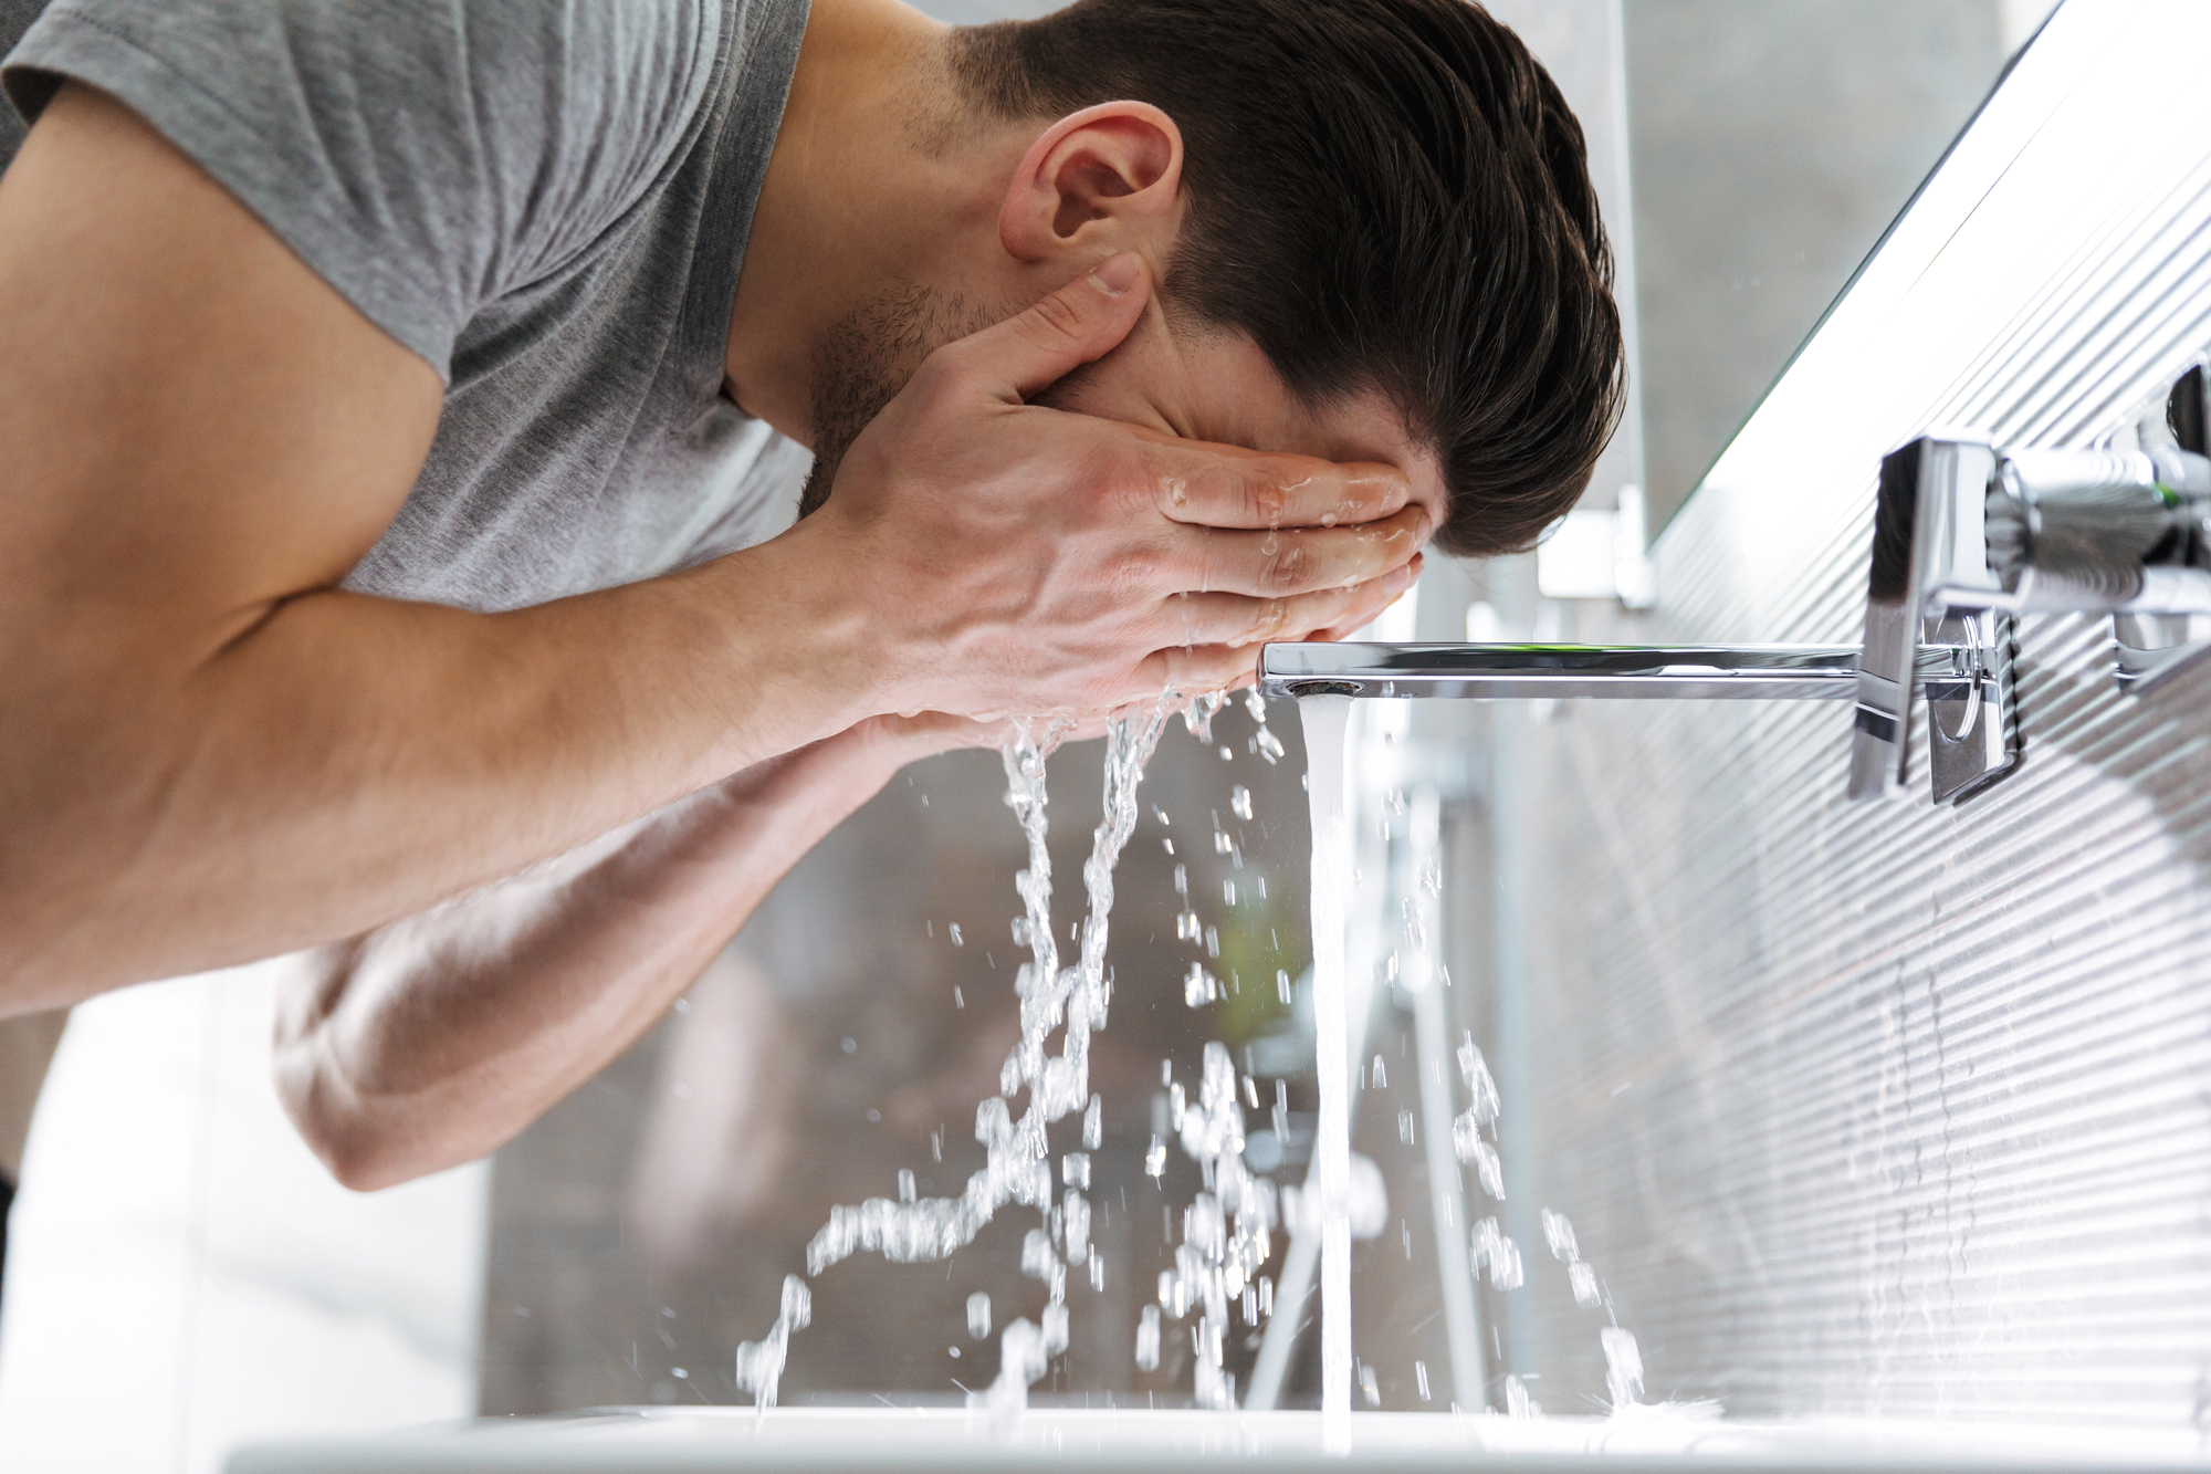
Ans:
<svg viewBox="0 0 2211 1474"><path fill-rule="evenodd" d="M0 1011L367 932L871 715L792 562L504 615L314 593L197 657L46 662L0 702Z"/></svg>

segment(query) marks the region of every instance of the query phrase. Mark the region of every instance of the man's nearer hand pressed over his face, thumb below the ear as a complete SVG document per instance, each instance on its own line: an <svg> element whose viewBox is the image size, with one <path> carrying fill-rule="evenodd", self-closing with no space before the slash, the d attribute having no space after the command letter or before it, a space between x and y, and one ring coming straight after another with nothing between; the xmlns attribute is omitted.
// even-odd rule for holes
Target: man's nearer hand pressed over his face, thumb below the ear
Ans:
<svg viewBox="0 0 2211 1474"><path fill-rule="evenodd" d="M1128 336L1145 294L1141 259L1112 257L937 350L789 536L838 569L816 602L834 591L871 611L887 710L1214 691L1249 677L1249 646L1353 629L1411 584L1428 513L1391 467L1026 403Z"/></svg>

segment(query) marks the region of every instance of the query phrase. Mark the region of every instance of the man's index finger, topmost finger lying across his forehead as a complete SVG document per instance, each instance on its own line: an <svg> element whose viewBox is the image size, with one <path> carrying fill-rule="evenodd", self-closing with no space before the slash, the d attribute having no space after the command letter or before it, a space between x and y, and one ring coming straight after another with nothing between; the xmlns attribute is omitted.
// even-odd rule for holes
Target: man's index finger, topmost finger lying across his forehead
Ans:
<svg viewBox="0 0 2211 1474"><path fill-rule="evenodd" d="M1400 511L1411 498L1404 471L1375 463L1251 451L1238 445L1150 440L1152 487L1161 516L1201 527L1353 527Z"/></svg>

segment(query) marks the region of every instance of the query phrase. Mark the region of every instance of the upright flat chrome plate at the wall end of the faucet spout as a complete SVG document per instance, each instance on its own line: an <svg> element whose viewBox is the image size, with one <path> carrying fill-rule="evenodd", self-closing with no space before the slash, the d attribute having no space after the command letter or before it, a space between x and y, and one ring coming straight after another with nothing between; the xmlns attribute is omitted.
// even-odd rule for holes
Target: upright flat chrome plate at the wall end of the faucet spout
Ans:
<svg viewBox="0 0 2211 1474"><path fill-rule="evenodd" d="M2003 584L1988 567L1988 489L1994 478L1997 451L1979 436L1921 436L1882 456L1851 733L1851 799L1901 792L1910 777L1913 673L1926 640L1924 617L1992 609L2003 600ZM1979 693L1983 671L1961 675ZM2008 706L2010 693L2003 697ZM1972 702L1974 726L1999 715L1981 706ZM1966 737L1970 733L1959 733L1959 739Z"/></svg>

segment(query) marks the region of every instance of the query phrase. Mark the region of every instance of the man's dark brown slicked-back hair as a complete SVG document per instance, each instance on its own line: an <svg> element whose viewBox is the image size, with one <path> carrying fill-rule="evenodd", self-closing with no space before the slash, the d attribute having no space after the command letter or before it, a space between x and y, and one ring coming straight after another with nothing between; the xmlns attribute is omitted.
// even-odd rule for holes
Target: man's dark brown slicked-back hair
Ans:
<svg viewBox="0 0 2211 1474"><path fill-rule="evenodd" d="M1380 390L1442 465L1450 553L1521 551L1623 401L1581 124L1470 0L1077 0L955 33L1004 117L1150 102L1190 197L1170 312L1243 330L1320 407Z"/></svg>

